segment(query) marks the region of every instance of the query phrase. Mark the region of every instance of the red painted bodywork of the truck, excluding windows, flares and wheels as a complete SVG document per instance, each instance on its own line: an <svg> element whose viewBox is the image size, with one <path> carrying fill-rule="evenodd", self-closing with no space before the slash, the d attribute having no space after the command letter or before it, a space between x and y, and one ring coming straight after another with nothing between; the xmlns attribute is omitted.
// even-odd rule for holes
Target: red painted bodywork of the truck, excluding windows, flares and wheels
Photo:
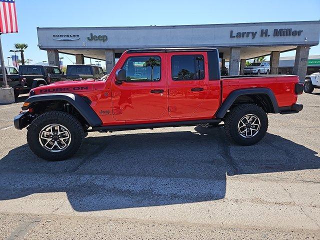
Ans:
<svg viewBox="0 0 320 240"><path fill-rule="evenodd" d="M115 72L124 61L132 56L149 56L150 53L124 52L113 70L103 81L83 80L56 82L47 86L34 88L35 95L53 92L72 92L87 96L90 106L98 113L102 125L136 124L159 121L196 120L213 118L215 112L234 90L255 87L269 88L279 107L291 106L297 100L294 86L299 82L295 75L259 75L209 79L204 74L202 80L179 80L171 78L171 55L176 52L152 53L161 57L161 79L149 82L115 83ZM189 52L179 52L190 54ZM206 52L202 54L207 62ZM205 72L208 72L205 64ZM203 88L191 91L192 88ZM152 89L163 89L161 93L151 93Z"/></svg>

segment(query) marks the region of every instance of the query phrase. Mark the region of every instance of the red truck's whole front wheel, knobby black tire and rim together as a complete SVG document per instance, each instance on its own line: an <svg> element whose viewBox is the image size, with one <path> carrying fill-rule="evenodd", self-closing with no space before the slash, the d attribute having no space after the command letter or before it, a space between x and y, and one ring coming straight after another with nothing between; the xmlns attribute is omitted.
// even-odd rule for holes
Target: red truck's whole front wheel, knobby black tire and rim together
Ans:
<svg viewBox="0 0 320 240"><path fill-rule="evenodd" d="M45 160L59 161L80 148L83 135L83 128L74 116L49 111L31 122L26 138L34 154Z"/></svg>

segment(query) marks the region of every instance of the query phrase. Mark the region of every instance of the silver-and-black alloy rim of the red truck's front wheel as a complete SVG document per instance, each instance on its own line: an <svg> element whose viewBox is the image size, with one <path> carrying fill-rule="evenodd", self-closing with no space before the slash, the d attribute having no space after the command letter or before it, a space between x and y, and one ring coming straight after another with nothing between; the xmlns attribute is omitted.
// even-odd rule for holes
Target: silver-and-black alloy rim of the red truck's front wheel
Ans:
<svg viewBox="0 0 320 240"><path fill-rule="evenodd" d="M71 134L65 126L49 124L40 130L39 142L44 149L58 152L70 144Z"/></svg>

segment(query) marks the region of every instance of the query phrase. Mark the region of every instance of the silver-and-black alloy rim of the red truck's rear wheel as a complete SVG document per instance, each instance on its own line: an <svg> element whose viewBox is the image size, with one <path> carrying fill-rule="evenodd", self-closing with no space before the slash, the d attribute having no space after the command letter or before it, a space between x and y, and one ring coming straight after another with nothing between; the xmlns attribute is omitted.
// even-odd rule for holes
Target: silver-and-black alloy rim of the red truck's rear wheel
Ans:
<svg viewBox="0 0 320 240"><path fill-rule="evenodd" d="M242 137L255 136L260 129L260 119L254 114L246 114L238 123L238 132Z"/></svg>

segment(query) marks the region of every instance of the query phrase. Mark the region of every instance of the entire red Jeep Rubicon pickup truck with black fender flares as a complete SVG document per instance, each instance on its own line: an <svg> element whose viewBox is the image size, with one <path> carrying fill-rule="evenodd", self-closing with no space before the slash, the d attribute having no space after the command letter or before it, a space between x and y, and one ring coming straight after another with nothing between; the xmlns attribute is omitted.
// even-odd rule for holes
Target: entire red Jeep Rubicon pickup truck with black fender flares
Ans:
<svg viewBox="0 0 320 240"><path fill-rule="evenodd" d="M217 125L241 145L258 142L267 113L302 110L295 75L220 77L215 48L153 48L123 52L108 76L33 88L17 129L46 160L70 157L88 131Z"/></svg>

